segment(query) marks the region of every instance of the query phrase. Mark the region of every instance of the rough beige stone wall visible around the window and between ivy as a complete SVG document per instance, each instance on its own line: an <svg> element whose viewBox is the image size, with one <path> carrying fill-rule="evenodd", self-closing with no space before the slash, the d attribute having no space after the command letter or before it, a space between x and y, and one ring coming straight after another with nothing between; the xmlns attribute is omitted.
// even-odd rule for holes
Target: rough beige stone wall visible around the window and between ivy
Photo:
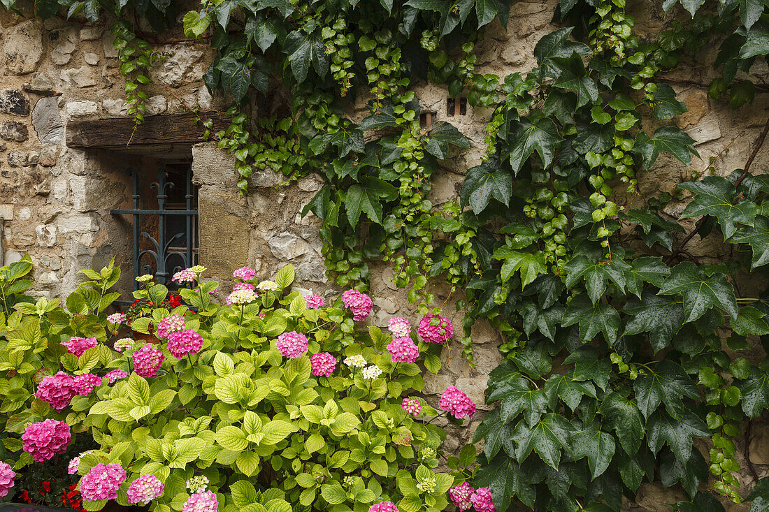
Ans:
<svg viewBox="0 0 769 512"><path fill-rule="evenodd" d="M557 0L516 3L511 9L508 29L495 22L478 44L478 71L504 76L534 67L534 45L542 35L556 28L551 19L557 4ZM645 0L633 0L631 4L629 10L637 20L635 32L652 37L664 24L658 8ZM150 114L181 113L185 111L183 103L188 108L203 110L222 108L224 102L211 98L199 81L213 56L208 45L176 42L183 38L180 34L161 37L167 43L159 43L158 48L166 58L151 73L154 82L148 88ZM714 46L704 53L715 51ZM122 282L123 288L131 286L130 225L127 219L116 218L109 211L130 205L131 182L125 168L131 165L154 177L155 169L163 164L162 158L158 158L161 155L131 153L130 148L121 152L79 151L65 145L66 130L72 121L125 115L123 81L116 56L108 24L65 22L60 18L40 23L0 10L2 260L7 264L25 252L32 255L35 294L68 293L82 281L77 274L79 269L98 268L112 255L129 274ZM711 61L713 56L704 58ZM758 95L751 108L737 112L715 106L703 86L714 78L713 69L697 66L696 62L691 64L682 66L685 71L677 75L664 77L689 108L686 115L674 122L697 141L701 160L695 158L692 169L704 170L709 158L717 156L715 171L728 175L744 165L751 141L764 124L769 101L766 95ZM751 74L765 78L766 65L755 65ZM470 151L452 155L445 172L435 177L430 199L439 206L457 197L464 170L480 161L484 125L491 110L468 105L467 115L449 117L445 88L416 88L423 110L434 112L438 121L456 125L472 145ZM361 96L356 104L360 107L365 101ZM359 119L363 112L358 108L351 115ZM754 173L767 171L767 151L764 149L758 155L751 169ZM209 268L212 277L225 281L220 291L227 289L232 270L244 264L257 269L260 277L268 278L291 263L296 268L298 287L331 297L339 293L325 277L318 219L311 214L306 218L300 215L301 208L321 187L321 178L310 175L281 188L276 186L275 175L257 173L251 177L248 196L243 198L235 188L231 158L213 143L188 148L188 157L195 183L200 187L201 264ZM628 195L624 205L633 207L644 197L673 193L678 182L690 177L691 170L662 155L654 169L639 176L641 195ZM684 194L681 201L668 204L667 214L677 218L686 199ZM687 248L704 261L717 261L723 251L710 239L703 243L697 237ZM390 281L388 266L372 264L371 276L375 309L369 321L384 326L388 318L398 314L415 323L417 312L408 304L404 291ZM441 303L446 301L446 311L458 324L461 314L454 312L458 297L450 297L448 287L440 282L431 286ZM477 364L474 370L461 359L461 349L454 342L444 350L441 374L426 378L424 391L432 404L437 403L438 393L450 384L482 404L488 373L501 361L497 350L501 340L484 322L476 324L473 338ZM478 414L474 418L470 429L447 426L451 434L448 450L455 450L469 440L480 417ZM759 477L769 474L767 426L765 422L755 422L754 435L747 440ZM741 441L738 447L738 459L744 453L745 442ZM752 482L751 475L744 471L743 490L747 492ZM626 510L671 510L668 504L679 498L681 495L675 491L644 485L637 496L638 504L628 504ZM747 512L748 508L731 505L727 510Z"/></svg>

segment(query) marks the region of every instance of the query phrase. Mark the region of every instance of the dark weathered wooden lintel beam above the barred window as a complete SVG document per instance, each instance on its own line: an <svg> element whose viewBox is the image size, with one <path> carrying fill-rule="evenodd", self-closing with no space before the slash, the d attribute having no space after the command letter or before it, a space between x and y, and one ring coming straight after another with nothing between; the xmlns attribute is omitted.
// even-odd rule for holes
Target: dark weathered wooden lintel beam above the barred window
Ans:
<svg viewBox="0 0 769 512"><path fill-rule="evenodd" d="M211 133L225 130L229 119L221 112L201 112L200 118L214 121ZM82 119L67 124L68 148L125 148L158 144L203 142L205 128L195 114L151 115L134 131L132 118Z"/></svg>

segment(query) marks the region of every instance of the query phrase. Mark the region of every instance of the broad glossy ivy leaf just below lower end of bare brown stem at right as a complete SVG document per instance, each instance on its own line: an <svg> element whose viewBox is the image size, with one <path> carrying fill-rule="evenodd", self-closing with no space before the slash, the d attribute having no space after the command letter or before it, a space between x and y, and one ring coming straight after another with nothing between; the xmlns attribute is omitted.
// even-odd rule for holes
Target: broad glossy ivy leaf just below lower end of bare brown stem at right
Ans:
<svg viewBox="0 0 769 512"><path fill-rule="evenodd" d="M678 294L684 298L687 322L697 320L714 307L723 309L731 318L737 318L737 299L726 276L721 272L705 276L691 261L684 261L673 268L670 277L662 284L660 294Z"/></svg>

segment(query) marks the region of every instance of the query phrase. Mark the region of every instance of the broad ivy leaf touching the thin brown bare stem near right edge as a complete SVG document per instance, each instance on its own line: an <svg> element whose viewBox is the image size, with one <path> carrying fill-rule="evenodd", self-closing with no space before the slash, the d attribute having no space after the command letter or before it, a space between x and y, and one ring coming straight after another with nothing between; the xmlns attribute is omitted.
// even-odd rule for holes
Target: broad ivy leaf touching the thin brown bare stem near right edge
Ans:
<svg viewBox="0 0 769 512"><path fill-rule="evenodd" d="M724 238L731 237L737 231L737 224L753 225L758 207L753 201L738 201L734 204L737 189L727 178L706 176L701 181L681 183L678 188L696 194L684 208L682 218L713 215L721 224Z"/></svg>

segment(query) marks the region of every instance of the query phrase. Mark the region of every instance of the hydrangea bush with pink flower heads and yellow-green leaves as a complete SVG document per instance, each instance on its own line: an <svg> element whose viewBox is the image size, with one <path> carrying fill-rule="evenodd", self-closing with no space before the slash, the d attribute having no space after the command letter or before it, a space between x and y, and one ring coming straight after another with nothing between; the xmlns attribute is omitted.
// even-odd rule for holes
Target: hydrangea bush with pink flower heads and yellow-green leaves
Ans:
<svg viewBox="0 0 769 512"><path fill-rule="evenodd" d="M17 329L25 318L34 324L38 354L55 358L33 365L14 402L3 441L17 453L12 469L90 435L98 449L69 464L87 510L108 500L161 512L438 512L451 501L493 510L488 490L465 482L474 447L445 457L446 434L434 422L467 424L475 404L455 387L441 411L418 396L425 369L441 367L448 319L423 318L418 333L405 318L384 332L363 327L368 295L305 298L291 291L291 266L259 283L239 269L225 305L211 299L218 283L201 281L205 269L189 268L175 275L188 287L175 308L107 318L100 307L115 300L105 285L116 270L88 276L83 289L101 298L84 301L81 314L68 299L66 310L51 303L61 310L54 315L46 303L24 303L26 316L17 308L7 317ZM168 304L168 288L138 281L137 300ZM158 343L126 338L127 327ZM439 457L455 471L437 471Z"/></svg>

